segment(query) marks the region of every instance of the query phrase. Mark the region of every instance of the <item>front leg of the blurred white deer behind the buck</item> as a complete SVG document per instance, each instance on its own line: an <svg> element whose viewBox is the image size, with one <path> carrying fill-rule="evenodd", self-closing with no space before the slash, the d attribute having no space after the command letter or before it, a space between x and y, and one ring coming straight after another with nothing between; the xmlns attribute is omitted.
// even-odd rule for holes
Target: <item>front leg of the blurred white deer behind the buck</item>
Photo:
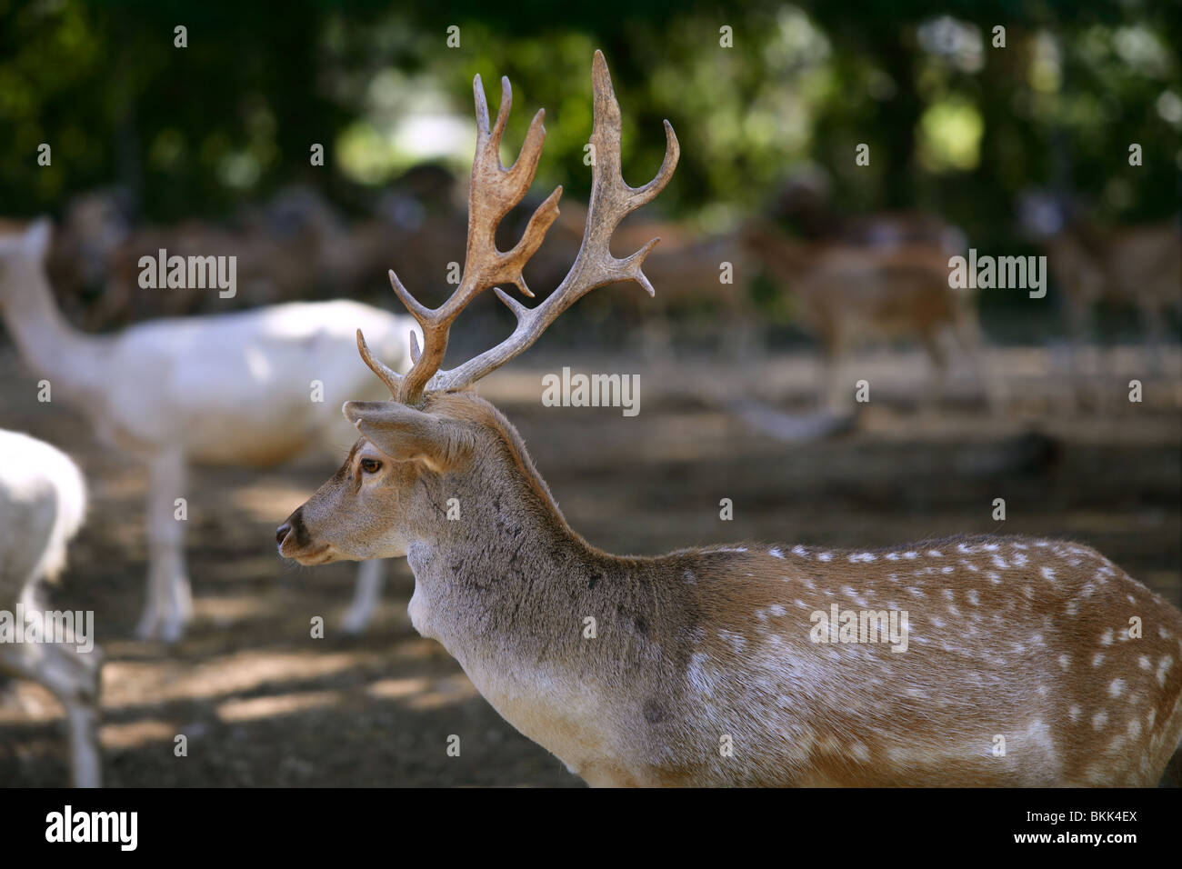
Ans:
<svg viewBox="0 0 1182 869"><path fill-rule="evenodd" d="M142 640L176 642L193 615L184 520L176 515L176 499L184 493L184 456L177 452L161 453L149 465L148 601L136 628Z"/></svg>

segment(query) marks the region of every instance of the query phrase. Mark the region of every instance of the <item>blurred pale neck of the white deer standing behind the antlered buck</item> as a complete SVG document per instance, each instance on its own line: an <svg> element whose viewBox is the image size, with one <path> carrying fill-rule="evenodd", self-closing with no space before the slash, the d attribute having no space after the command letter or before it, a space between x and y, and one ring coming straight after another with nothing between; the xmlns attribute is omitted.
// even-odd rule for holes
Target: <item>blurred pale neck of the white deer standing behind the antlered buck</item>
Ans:
<svg viewBox="0 0 1182 869"><path fill-rule="evenodd" d="M67 398L100 389L108 342L70 325L53 299L44 266L12 261L4 280L0 313L26 364Z"/></svg>

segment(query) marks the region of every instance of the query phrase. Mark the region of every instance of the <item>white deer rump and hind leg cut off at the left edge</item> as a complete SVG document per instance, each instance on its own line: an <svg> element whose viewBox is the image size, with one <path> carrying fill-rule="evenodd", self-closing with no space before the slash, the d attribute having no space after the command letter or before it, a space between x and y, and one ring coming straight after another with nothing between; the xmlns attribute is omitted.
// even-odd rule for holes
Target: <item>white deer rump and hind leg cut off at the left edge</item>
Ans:
<svg viewBox="0 0 1182 869"><path fill-rule="evenodd" d="M21 621L46 611L46 582L66 564L66 545L86 514L86 481L57 447L18 432L0 429L0 612ZM19 605L19 607L18 607ZM14 618L15 612L21 616ZM0 637L4 634L0 633ZM0 674L48 688L66 713L70 769L74 787L98 787L98 696L102 651L63 642L4 642Z"/></svg>

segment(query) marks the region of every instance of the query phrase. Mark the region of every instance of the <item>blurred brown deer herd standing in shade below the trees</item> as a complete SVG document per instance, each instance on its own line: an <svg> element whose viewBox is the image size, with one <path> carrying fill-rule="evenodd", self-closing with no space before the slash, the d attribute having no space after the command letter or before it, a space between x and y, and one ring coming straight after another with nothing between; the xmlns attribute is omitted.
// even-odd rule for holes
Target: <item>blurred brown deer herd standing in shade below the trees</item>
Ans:
<svg viewBox="0 0 1182 869"><path fill-rule="evenodd" d="M409 281L437 287L465 232L456 188L447 170L422 166L371 203L370 216L352 223L314 190L293 187L264 205L242 208L232 227L190 220L142 229L132 228L124 194L93 193L74 200L54 234L46 254L48 277L66 316L87 331L320 298L325 292L357 296L378 285L391 266ZM917 343L929 359L935 383L923 390L928 401L941 396L954 350L975 370L988 404L995 410L1004 406L1006 390L983 352L975 292L949 287L949 257L967 247L956 227L920 212L838 216L827 183L816 170L798 171L766 210L767 216L715 235L654 218L625 221L622 244L662 239L649 260L654 285L661 287L656 298L650 304L626 293L612 299L616 316L631 324L641 352L668 357L673 323L684 319L680 314L709 311L715 316L712 324L719 318L725 324L713 330L721 336L723 352L759 355L765 336L751 283L762 273L784 292L793 323L819 344L821 407L849 410L852 390L844 365L858 348L900 339ZM1019 210L1025 236L1047 255L1059 292L1076 391L1084 390L1078 375L1100 301L1137 312L1148 370L1161 372L1169 313L1182 306L1177 222L1102 229L1078 207L1045 193L1024 196ZM540 284L554 279L578 248L585 218L580 206L564 209L526 277ZM786 218L795 234L782 228ZM239 297L227 301L141 290L138 260L158 249L182 257L235 255ZM733 264L733 280L720 280L723 262Z"/></svg>

